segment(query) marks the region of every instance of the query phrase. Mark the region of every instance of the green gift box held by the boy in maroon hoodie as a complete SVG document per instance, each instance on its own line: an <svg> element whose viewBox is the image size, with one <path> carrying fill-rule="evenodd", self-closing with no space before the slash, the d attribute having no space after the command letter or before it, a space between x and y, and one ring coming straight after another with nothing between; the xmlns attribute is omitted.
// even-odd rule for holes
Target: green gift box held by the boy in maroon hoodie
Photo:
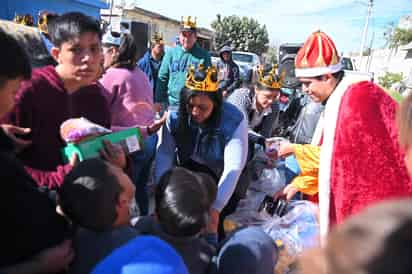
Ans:
<svg viewBox="0 0 412 274"><path fill-rule="evenodd" d="M103 148L103 140L120 144L126 154L143 149L143 137L138 128L129 128L126 130L101 135L93 139L88 139L80 143L69 143L63 148L63 159L67 163L76 153L79 161L99 157L99 151Z"/></svg>

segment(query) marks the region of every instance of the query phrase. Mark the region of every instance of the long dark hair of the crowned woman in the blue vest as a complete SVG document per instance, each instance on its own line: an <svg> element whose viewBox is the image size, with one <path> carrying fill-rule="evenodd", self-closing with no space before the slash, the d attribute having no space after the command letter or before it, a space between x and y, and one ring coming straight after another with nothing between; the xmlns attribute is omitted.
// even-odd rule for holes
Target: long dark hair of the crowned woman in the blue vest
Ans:
<svg viewBox="0 0 412 274"><path fill-rule="evenodd" d="M197 91L184 87L180 92L179 121L177 129L177 136L182 143L189 144L194 141L191 140L191 134L189 134L190 113L188 113L187 105L192 97L199 95L206 95L213 102L213 111L206 123L212 127L217 127L219 125L223 106L222 92L220 90L216 92Z"/></svg>

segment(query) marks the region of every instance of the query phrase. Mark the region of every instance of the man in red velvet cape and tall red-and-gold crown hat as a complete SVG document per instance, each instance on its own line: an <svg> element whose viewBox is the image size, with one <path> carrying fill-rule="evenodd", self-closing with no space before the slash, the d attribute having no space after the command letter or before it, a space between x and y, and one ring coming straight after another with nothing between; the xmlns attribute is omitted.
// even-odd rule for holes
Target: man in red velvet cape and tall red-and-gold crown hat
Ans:
<svg viewBox="0 0 412 274"><path fill-rule="evenodd" d="M312 145L281 145L280 153L294 153L302 173L312 177L292 183L285 193L308 186L319 193L321 236L371 203L411 196L394 124L397 103L369 79L344 72L324 32L311 34L295 67L302 90L325 110Z"/></svg>

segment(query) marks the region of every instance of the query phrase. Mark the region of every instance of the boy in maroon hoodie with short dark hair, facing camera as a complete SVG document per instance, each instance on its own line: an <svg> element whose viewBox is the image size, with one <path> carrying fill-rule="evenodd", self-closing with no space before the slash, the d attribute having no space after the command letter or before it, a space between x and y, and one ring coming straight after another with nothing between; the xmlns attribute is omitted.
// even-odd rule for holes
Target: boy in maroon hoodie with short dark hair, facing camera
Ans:
<svg viewBox="0 0 412 274"><path fill-rule="evenodd" d="M56 18L49 32L57 66L33 71L6 120L31 129L27 137L32 144L19 157L38 185L55 188L75 162L73 158L72 164L63 163L60 125L69 118L85 117L110 128L111 116L102 87L95 83L102 61L99 23L71 12ZM103 154L113 164L126 167L122 150L108 144Z"/></svg>

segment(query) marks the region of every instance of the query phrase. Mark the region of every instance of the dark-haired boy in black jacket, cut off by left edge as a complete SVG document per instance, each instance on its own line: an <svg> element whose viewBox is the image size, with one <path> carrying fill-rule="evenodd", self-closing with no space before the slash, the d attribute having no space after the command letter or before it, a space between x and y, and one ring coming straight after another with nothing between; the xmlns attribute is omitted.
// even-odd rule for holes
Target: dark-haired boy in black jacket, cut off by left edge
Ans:
<svg viewBox="0 0 412 274"><path fill-rule="evenodd" d="M20 82L30 79L31 66L16 40L0 30L0 117L14 105ZM3 222L0 242L1 273L58 273L73 259L71 242L65 241L68 224L55 211L46 193L26 173L15 156L12 133L24 129L0 127L0 208ZM22 144L22 143L20 143Z"/></svg>

